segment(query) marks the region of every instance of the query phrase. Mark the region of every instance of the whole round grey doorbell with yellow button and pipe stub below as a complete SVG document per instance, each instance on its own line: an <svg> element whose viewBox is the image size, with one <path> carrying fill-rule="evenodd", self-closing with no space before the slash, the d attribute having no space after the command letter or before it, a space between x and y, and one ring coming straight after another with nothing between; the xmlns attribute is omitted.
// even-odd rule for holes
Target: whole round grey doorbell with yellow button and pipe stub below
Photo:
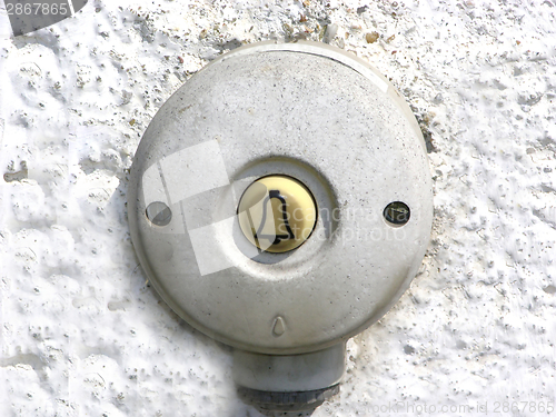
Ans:
<svg viewBox="0 0 556 417"><path fill-rule="evenodd" d="M338 391L345 342L409 286L431 179L408 106L374 68L317 42L212 61L162 106L131 170L131 238L156 290L235 348L261 408Z"/></svg>

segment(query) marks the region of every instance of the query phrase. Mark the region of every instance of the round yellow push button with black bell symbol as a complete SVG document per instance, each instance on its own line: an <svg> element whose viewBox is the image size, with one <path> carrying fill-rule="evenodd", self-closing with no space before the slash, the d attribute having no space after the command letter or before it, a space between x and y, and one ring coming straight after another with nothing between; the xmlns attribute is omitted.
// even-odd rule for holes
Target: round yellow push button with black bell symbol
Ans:
<svg viewBox="0 0 556 417"><path fill-rule="evenodd" d="M245 190L238 219L246 238L267 252L286 252L302 245L317 222L311 192L287 176L262 177Z"/></svg>

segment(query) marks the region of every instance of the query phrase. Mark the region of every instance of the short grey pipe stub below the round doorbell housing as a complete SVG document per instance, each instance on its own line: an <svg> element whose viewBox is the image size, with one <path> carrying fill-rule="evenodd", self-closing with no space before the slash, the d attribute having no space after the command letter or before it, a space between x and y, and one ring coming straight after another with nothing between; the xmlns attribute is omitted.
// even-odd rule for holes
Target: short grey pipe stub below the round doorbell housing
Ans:
<svg viewBox="0 0 556 417"><path fill-rule="evenodd" d="M244 399L267 409L317 407L337 394L346 344L301 355L234 351L234 379Z"/></svg>

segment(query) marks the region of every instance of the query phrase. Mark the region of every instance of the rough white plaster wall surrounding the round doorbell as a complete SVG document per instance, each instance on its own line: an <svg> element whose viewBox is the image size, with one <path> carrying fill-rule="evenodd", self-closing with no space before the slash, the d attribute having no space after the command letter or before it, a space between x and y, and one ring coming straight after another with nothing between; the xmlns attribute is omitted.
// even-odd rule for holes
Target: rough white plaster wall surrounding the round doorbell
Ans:
<svg viewBox="0 0 556 417"><path fill-rule="evenodd" d="M546 415L555 32L553 0L91 1L18 38L0 10L0 415L261 416L235 393L230 349L146 282L125 201L142 132L191 73L296 38L391 79L435 180L419 275L350 340L341 393L312 415Z"/></svg>

